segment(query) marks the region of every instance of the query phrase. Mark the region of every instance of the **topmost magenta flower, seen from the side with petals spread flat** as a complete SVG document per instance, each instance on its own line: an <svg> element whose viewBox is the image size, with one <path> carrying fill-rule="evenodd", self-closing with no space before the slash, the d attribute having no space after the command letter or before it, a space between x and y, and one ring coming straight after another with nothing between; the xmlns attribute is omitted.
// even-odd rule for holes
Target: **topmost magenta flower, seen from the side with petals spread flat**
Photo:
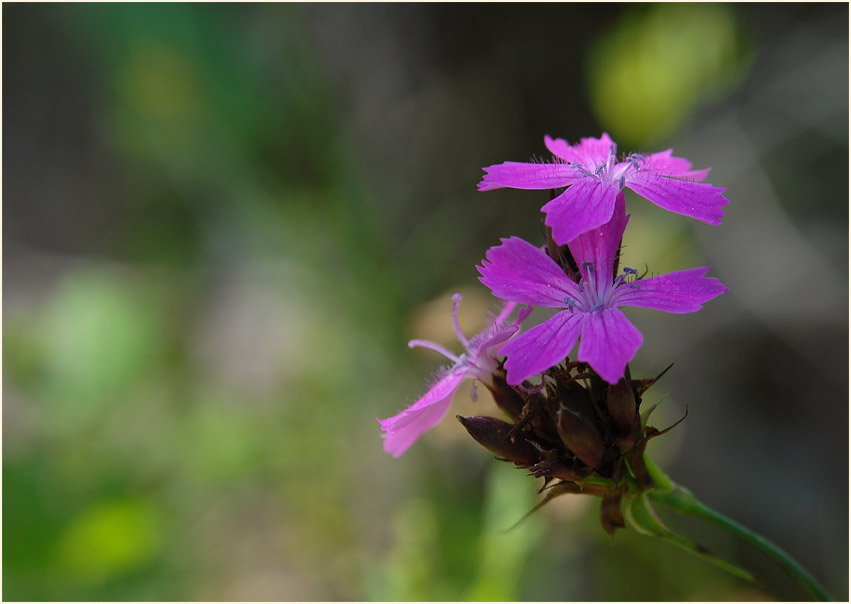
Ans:
<svg viewBox="0 0 851 604"><path fill-rule="evenodd" d="M633 153L619 162L615 157L617 145L605 133L601 138L583 138L572 146L549 136L544 137L544 143L553 154L552 163L489 166L484 169L479 190L568 187L541 208L559 245L607 223L615 198L624 187L671 212L721 224L721 208L729 203L723 196L727 189L700 182L709 169L692 170L691 162L673 157L671 149L651 155Z"/></svg>

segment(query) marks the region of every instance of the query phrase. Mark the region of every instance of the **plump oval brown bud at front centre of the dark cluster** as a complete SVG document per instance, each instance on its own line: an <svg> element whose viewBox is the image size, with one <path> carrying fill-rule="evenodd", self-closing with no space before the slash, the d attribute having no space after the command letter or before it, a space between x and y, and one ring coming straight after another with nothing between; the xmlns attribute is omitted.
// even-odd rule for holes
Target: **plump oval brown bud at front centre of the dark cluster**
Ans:
<svg viewBox="0 0 851 604"><path fill-rule="evenodd" d="M587 466L599 469L605 443L594 421L595 411L585 389L576 382L560 389L556 428L562 442ZM574 387L575 386L575 387Z"/></svg>

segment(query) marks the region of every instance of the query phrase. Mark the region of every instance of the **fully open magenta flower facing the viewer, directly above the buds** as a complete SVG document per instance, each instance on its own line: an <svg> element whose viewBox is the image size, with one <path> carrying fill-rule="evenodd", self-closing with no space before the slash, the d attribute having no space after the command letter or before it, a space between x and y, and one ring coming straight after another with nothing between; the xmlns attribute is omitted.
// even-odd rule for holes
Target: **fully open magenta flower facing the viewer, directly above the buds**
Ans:
<svg viewBox="0 0 851 604"><path fill-rule="evenodd" d="M642 306L670 313L694 312L727 288L704 277L710 267L648 279L634 269L613 279L614 262L629 216L619 193L612 219L568 243L581 280L572 281L540 248L517 237L503 239L486 254L480 281L498 298L560 308L544 323L515 337L502 349L507 381L516 385L561 363L580 338L578 359L610 384L617 383L641 346L641 333L619 310ZM632 279L630 279L632 277Z"/></svg>

